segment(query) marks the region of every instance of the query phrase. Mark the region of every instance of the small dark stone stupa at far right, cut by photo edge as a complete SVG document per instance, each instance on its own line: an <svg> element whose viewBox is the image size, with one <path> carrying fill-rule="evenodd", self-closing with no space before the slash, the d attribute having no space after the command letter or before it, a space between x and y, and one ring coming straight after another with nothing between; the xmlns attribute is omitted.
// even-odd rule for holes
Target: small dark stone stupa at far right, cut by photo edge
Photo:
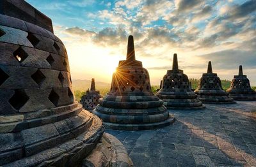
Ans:
<svg viewBox="0 0 256 167"><path fill-rule="evenodd" d="M230 97L235 100L250 101L256 100L256 92L250 86L250 80L243 75L243 68L239 66L238 75L234 75L230 88L227 90Z"/></svg>

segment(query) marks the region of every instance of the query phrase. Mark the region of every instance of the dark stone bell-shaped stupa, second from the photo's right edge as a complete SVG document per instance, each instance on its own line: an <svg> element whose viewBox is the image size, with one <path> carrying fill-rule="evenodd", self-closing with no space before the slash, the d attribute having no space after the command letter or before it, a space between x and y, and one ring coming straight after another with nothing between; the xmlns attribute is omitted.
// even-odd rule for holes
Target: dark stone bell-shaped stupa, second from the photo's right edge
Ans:
<svg viewBox="0 0 256 167"><path fill-rule="evenodd" d="M202 78L200 78L195 93L198 94L198 99L203 103L235 103L234 100L228 96L229 93L223 91L221 80L217 74L212 73L211 61L208 63L207 73L203 73Z"/></svg>

